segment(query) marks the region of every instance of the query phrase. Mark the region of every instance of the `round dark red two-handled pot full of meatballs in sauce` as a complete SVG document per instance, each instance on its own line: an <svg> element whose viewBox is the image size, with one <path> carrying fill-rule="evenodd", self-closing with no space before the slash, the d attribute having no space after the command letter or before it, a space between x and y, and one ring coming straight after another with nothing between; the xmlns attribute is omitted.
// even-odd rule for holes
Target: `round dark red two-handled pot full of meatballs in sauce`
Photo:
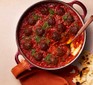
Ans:
<svg viewBox="0 0 93 85"><path fill-rule="evenodd" d="M74 4L79 5L83 9L83 15L80 15L73 8ZM48 10L47 10L47 7L49 8ZM59 10L60 8L61 8L61 11ZM37 12L38 11L37 9L39 10L40 13ZM35 12L35 13L32 14L33 12ZM37 14L39 16L37 16ZM50 60L49 59L51 56L50 54L52 54L52 56L55 56L55 54L57 54L56 52L54 52L55 50L53 47L55 47L55 49L60 48L61 44L58 44L58 43L69 43L70 39L72 39L75 36L76 32L84 24L83 20L84 20L86 14L87 14L86 7L79 1L73 1L70 3L65 3L63 1L41 1L41 2L34 4L33 6L29 7L23 13L22 17L20 18L20 20L18 22L17 30L16 30L16 40L17 40L17 45L18 45L18 52L15 56L16 62L19 63L20 61L18 59L18 56L23 55L23 57L27 60L27 62L29 62L31 65L41 68L41 69L56 70L56 69L61 69L61 68L64 68L64 67L70 65L72 62L74 62L79 57L80 53L82 52L82 50L84 48L85 41L86 41L86 32L82 33L76 39L76 41L74 41L70 45L70 47L62 46L62 49L59 49L59 50L61 50L61 52L59 52L59 55L57 55L58 60L55 60L55 58ZM30 17L31 15L34 16L35 20L32 20L33 18ZM40 19L40 17L42 19ZM45 17L45 18L43 18L43 17ZM37 22L37 20L38 20L38 22ZM44 29L43 31L41 30L41 28L38 28L40 30L37 30L35 28L35 26L36 27L39 26L36 24L40 23L41 21L43 21L43 23L41 23L39 25L43 27L43 29ZM67 35L69 34L69 36L68 36L69 39L67 39L65 41L64 41L64 38L66 39L67 36L62 38L62 36L64 36L62 34L64 34L64 33L60 33L60 31L63 32L64 30L60 30L60 25L59 25L60 23L61 23L62 27L65 28L64 33L65 34L67 33ZM25 31L25 29L24 29L25 27L27 27L31 30ZM73 27L76 30L70 30L70 32L69 32L69 29L71 29ZM49 43L49 46L47 46L45 43L43 43L43 44L45 45L46 48L42 48L42 45L33 47L33 46L29 45L29 43L26 43L26 45L24 45L24 43L23 43L24 40L22 40L24 37L23 35L27 36L27 37L25 37L26 38L25 41L27 41L29 39L28 36L31 35L30 34L31 32L32 32L32 38L35 37L36 35L38 35L39 37L42 37L44 31L46 31L45 30L46 28L50 28L52 30L51 33L49 33L49 31L51 31L51 30L49 30L46 33L48 35L47 42ZM56 30L54 28L59 28L59 29L56 29L57 32L55 32ZM77 28L78 28L78 30L77 30ZM25 32L23 32L23 31L25 31ZM41 31L41 33L40 33L40 31ZM58 33L61 34L61 39L59 38L60 35ZM57 35L57 38L55 37L55 35ZM33 39L33 40L34 41L36 40L36 42L40 41L38 39L38 36L36 36L35 39ZM50 36L52 36L52 38ZM44 36L44 37L46 40L47 37L46 36ZM31 38L31 40L32 40L32 38ZM35 44L36 42L33 42L33 43L31 42L31 44L37 45L37 44ZM77 42L77 44L76 44L76 42ZM42 42L40 42L40 43L42 43ZM38 45L40 45L40 43ZM38 49L39 47L40 47L40 49ZM31 50L28 51L30 48L31 48ZM41 56L43 55L44 57L42 59L36 58L36 55L35 55L35 57L33 57L32 54L34 54L33 53L35 51L34 49L37 50L37 52L41 52L41 54L40 53L39 54ZM66 49L66 50L64 51L64 49ZM69 51L70 51L70 53L69 53ZM62 52L64 52L64 53L62 53ZM29 54L31 54L31 55L29 55ZM38 53L36 53L36 54L38 54ZM62 57L58 58L60 56L60 54L63 58ZM63 54L66 55L66 58L65 58L65 56L63 56ZM62 60L62 61L60 62L60 60ZM51 61L53 61L52 64L51 64Z"/></svg>

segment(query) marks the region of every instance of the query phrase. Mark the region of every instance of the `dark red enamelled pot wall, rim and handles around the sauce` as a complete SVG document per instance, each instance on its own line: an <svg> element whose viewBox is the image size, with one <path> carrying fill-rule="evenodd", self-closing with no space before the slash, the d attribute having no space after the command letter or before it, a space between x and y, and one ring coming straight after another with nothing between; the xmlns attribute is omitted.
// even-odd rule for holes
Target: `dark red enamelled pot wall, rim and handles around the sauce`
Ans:
<svg viewBox="0 0 93 85"><path fill-rule="evenodd" d="M21 27L21 24L22 24L22 22L23 22L23 19L25 19L25 17L29 14L30 10L33 10L35 7L38 7L38 6L40 6L40 5L42 5L42 4L46 4L46 3L58 3L58 4L61 3L64 7L69 8L71 11L73 11L73 13L76 14L76 16L78 16L78 18L79 18L80 22L82 23L82 25L84 24L83 19L85 18L87 11L86 11L85 6L84 6L81 2L79 2L79 1L73 1L73 2L71 2L71 3L65 3L65 2L62 2L62 1L41 1L41 2L38 2L38 3L34 4L34 5L31 6L30 8L28 8L28 9L24 12L24 14L22 15L22 17L20 18L20 20L19 20L19 22L18 22L17 30L16 30L16 40L17 40L17 45L18 45L18 52L17 52L16 57L15 57L16 62L17 62L17 63L20 62L19 59L18 59L18 56L21 54L21 55L23 55L23 57L24 57L31 65L33 65L33 66L36 66L36 67L38 67L38 68L45 69L45 70L56 70L56 69L61 69L61 68L64 68L64 67L70 65L72 62L74 62L74 61L79 57L79 55L80 55L80 53L82 52L82 50L83 50L83 48L84 48L84 45L85 45L86 32L83 33L83 38L82 38L82 39L84 39L84 40L83 40L83 42L82 42L82 44L81 44L82 46L80 47L79 52L76 54L76 57L73 58L69 63L66 63L66 64L64 64L64 65L62 65L62 66L58 66L58 67L43 67L43 66L39 66L39 65L33 63L33 62L26 56L26 52L24 53L23 50L22 50L22 48L20 47L20 43L19 43L19 39L18 39L19 37L18 37L18 36L19 36L20 27ZM83 11L84 11L84 14L83 14L83 15L80 15L80 14L72 7L73 4L78 4L79 6L81 6L81 8L82 8ZM46 10L46 9L45 9L45 10ZM50 13L52 14L53 11L50 10ZM60 13L59 13L59 15L60 15ZM50 21L51 21L51 20L50 20ZM30 22L30 23L31 23L31 25L34 24L34 22ZM50 22L49 24L52 25L53 23L54 23L54 22ZM55 24L55 23L54 23L54 24ZM29 32L27 32L27 33L29 34ZM39 34L38 34L38 35L39 35ZM27 35L27 36L28 36L28 35ZM39 35L39 36L40 36L40 35ZM55 39L55 37L54 37L53 39ZM57 38L57 39L58 39L58 38ZM55 40L57 40L57 39L55 39ZM27 49L29 49L29 48L27 48ZM73 54L74 54L74 53L73 53Z"/></svg>

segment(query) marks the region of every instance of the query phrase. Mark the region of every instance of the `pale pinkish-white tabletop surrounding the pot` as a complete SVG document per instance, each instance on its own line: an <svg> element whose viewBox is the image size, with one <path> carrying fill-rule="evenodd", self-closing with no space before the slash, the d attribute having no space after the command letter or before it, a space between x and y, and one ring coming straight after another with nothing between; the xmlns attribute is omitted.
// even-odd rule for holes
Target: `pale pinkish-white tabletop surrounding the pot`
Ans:
<svg viewBox="0 0 93 85"><path fill-rule="evenodd" d="M16 26L22 13L37 1L40 0L0 0L0 85L20 85L20 82L11 73L11 68L16 65L14 60L17 52ZM86 21L93 14L93 0L80 1L88 10ZM75 7L82 12L79 6ZM87 41L84 49L93 53L93 23L87 29Z"/></svg>

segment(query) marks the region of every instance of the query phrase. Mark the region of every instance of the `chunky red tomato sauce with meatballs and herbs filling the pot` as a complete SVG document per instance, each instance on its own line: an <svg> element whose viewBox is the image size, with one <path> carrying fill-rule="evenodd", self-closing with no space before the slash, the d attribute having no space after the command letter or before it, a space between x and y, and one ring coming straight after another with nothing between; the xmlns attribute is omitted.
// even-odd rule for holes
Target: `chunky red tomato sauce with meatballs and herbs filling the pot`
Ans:
<svg viewBox="0 0 93 85"><path fill-rule="evenodd" d="M76 56L63 46L78 32L82 22L69 7L60 3L46 3L34 7L19 28L19 43L24 55L40 67L55 68L71 62ZM83 43L80 35L73 43ZM78 42L79 44L76 44Z"/></svg>

